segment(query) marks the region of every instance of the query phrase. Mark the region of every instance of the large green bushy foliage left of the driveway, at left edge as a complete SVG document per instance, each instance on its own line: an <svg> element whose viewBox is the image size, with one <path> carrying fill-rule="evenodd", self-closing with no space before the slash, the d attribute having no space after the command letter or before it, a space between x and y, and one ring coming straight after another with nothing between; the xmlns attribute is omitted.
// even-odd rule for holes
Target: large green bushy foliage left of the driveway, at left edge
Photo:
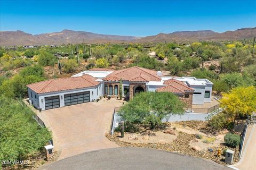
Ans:
<svg viewBox="0 0 256 170"><path fill-rule="evenodd" d="M51 133L31 117L17 100L0 96L0 160L23 160L43 149Z"/></svg>

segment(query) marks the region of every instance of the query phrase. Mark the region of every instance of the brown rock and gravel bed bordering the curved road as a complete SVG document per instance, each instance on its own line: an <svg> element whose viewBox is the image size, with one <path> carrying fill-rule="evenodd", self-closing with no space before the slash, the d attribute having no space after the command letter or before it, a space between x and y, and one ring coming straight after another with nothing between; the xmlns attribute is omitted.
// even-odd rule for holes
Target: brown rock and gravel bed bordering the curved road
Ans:
<svg viewBox="0 0 256 170"><path fill-rule="evenodd" d="M189 126L189 128L192 129L201 129L201 130L205 130L205 123L201 123L200 121L195 121L195 122L181 122L180 123L183 126ZM199 131L198 131L199 132ZM208 134L213 134L211 131L208 131ZM221 132L219 132L218 134L221 134ZM171 134L170 134L171 135ZM225 161L225 154L223 153L224 150L226 149L231 149L235 151L235 155L234 155L234 161L233 164L237 163L239 161L239 147L237 148L230 148L225 146L224 143L220 143L217 147L211 147L212 152L209 150L197 150L196 148L193 148L189 145L189 143L191 143L191 141L196 141L196 134L188 134L188 133L184 133L184 132L178 132L177 138L175 138L175 140L171 141L171 142L147 142L145 141L144 143L141 142L130 142L130 141L122 141L119 140L120 138L120 134L119 132L115 132L113 134L113 136L111 136L110 134L106 134L106 137L112 141L115 142L117 145L122 146L122 147L143 147L143 148L154 148L154 149L162 149L162 150L166 150L166 151L171 151L171 152L179 152L181 154L185 154L185 155L191 155L191 156L195 156L195 157L201 157L201 158L206 158L206 159L211 159L214 162L217 162L221 165L228 165L226 164ZM121 138L120 138L121 139ZM221 156L217 156L217 150L221 149ZM210 148L209 148L210 149Z"/></svg>

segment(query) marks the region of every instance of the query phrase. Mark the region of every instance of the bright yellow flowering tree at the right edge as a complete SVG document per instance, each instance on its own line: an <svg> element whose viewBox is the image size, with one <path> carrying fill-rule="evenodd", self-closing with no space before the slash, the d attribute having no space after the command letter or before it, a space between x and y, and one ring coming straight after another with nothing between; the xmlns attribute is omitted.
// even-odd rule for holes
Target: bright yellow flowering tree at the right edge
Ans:
<svg viewBox="0 0 256 170"><path fill-rule="evenodd" d="M256 112L256 88L254 86L234 88L230 93L223 94L221 107L233 120L239 115L252 115Z"/></svg>

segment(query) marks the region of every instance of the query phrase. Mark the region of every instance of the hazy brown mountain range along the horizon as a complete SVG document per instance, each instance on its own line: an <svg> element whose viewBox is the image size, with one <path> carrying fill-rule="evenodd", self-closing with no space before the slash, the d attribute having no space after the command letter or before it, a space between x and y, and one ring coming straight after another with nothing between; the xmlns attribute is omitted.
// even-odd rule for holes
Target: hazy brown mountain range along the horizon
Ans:
<svg viewBox="0 0 256 170"><path fill-rule="evenodd" d="M157 43L157 42L190 42L200 40L241 40L256 36L256 27L242 28L222 33L211 30L203 31L177 31L172 33L159 33L155 36L133 37L102 35L98 33L63 30L61 32L42 33L31 35L23 31L0 31L0 46L19 45L59 45L74 43Z"/></svg>

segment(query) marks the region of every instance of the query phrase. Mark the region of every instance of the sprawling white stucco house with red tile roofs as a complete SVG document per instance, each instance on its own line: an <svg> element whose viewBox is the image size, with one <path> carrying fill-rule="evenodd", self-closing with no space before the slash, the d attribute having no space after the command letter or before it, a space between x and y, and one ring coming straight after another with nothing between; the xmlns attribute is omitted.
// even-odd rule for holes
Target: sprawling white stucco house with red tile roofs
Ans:
<svg viewBox="0 0 256 170"><path fill-rule="evenodd" d="M51 109L94 101L100 96L119 98L122 80L123 97L132 99L142 91L172 92L188 107L211 102L213 83L194 77L163 77L161 71L138 66L122 70L91 69L73 75L28 84L30 102L36 107Z"/></svg>

